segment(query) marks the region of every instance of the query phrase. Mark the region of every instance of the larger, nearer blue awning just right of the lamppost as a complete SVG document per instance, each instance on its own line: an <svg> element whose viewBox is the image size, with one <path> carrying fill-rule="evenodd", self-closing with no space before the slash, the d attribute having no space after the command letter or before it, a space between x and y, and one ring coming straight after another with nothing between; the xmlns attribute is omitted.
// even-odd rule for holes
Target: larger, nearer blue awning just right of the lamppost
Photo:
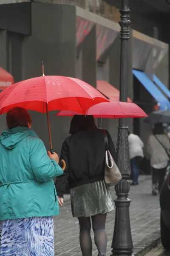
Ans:
<svg viewBox="0 0 170 256"><path fill-rule="evenodd" d="M160 110L170 110L170 102L149 77L142 71L133 70L133 75L140 81L153 98L160 103Z"/></svg>

